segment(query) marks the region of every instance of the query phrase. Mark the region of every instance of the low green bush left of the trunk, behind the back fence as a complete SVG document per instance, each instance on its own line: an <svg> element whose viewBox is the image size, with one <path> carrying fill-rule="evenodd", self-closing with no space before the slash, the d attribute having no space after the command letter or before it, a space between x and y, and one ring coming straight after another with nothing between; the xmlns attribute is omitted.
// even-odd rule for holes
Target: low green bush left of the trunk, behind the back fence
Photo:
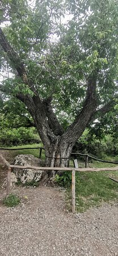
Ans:
<svg viewBox="0 0 118 256"><path fill-rule="evenodd" d="M18 146L21 144L39 143L40 138L34 127L20 127L18 129L2 129L0 131L0 146Z"/></svg>

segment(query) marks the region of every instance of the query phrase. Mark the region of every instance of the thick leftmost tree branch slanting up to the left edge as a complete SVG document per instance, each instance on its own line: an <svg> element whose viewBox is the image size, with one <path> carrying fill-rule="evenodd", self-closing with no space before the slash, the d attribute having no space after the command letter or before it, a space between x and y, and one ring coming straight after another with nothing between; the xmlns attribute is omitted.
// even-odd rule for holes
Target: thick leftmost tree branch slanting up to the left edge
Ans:
<svg viewBox="0 0 118 256"><path fill-rule="evenodd" d="M5 51L7 56L9 57L12 67L16 69L18 75L22 77L24 84L27 84L29 88L34 92L35 88L33 88L33 85L27 79L27 73L23 61L20 60L18 54L10 46L1 28L0 44L3 48L3 51ZM1 90L3 91L3 88ZM48 146L55 139L55 135L53 134L53 131L50 129L48 125L45 108L43 103L41 102L39 95L37 95L37 93L35 92L33 97L31 97L29 94L27 94L27 96L24 96L24 94L18 93L16 95L16 98L18 98L20 101L26 104L29 113L32 115L33 121L35 122L37 131L40 132L40 137L42 141L44 140L45 145Z"/></svg>

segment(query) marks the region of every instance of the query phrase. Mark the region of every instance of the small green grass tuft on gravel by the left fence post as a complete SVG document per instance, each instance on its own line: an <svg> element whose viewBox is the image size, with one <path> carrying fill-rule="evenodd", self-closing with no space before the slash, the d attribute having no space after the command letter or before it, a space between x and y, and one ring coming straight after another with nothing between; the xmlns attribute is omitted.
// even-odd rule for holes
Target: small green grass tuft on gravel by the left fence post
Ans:
<svg viewBox="0 0 118 256"><path fill-rule="evenodd" d="M6 207L15 207L19 203L20 198L13 194L10 194L8 197L5 197L5 199L3 199L3 204L6 205Z"/></svg>

